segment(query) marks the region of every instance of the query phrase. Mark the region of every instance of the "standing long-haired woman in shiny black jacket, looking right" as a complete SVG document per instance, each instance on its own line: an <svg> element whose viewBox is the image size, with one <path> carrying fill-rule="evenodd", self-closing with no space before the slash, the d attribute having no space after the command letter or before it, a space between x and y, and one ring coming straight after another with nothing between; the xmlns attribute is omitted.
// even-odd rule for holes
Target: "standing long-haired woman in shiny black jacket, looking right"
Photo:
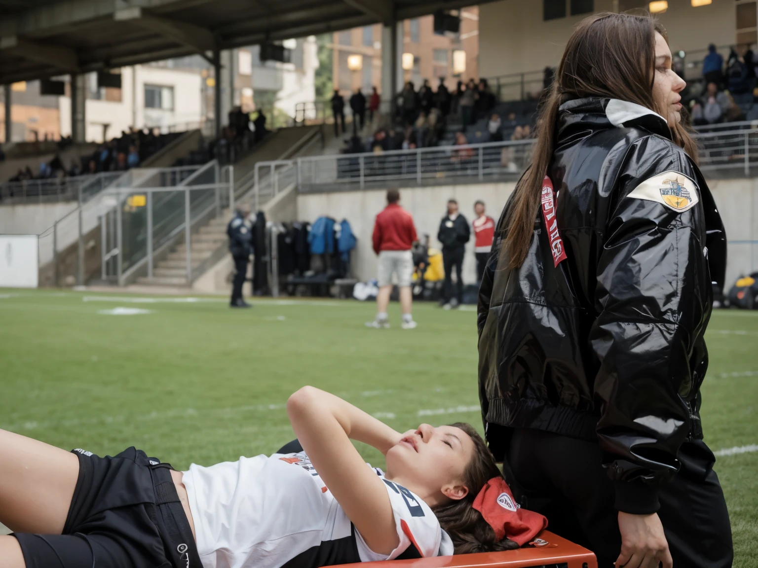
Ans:
<svg viewBox="0 0 758 568"><path fill-rule="evenodd" d="M726 239L664 34L601 13L568 40L484 271L479 394L529 508L598 566L726 568L700 423Z"/></svg>

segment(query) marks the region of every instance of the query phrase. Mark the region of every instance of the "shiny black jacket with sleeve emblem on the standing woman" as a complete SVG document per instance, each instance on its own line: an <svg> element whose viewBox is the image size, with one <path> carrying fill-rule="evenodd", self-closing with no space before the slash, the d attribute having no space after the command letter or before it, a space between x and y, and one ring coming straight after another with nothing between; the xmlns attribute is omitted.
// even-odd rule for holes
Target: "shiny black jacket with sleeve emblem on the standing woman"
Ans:
<svg viewBox="0 0 758 568"><path fill-rule="evenodd" d="M539 211L525 263L507 268L509 201L481 283L487 441L498 458L510 428L597 441L616 506L653 512L679 446L702 438L703 333L712 282L724 284L724 226L666 121L639 105L562 105L548 175L567 259L553 266Z"/></svg>

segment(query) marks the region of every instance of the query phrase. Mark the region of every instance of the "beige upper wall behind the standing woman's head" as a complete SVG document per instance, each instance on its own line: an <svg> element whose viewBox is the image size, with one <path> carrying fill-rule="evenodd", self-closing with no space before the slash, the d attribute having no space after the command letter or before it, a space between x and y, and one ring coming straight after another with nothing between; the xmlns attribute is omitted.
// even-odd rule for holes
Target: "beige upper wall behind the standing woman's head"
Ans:
<svg viewBox="0 0 758 568"><path fill-rule="evenodd" d="M597 11L613 11L618 2L595 0ZM735 42L734 0L713 0L693 8L690 0L669 0L669 9L658 14L669 32L672 51L703 50L709 43ZM542 2L503 0L479 7L479 71L492 77L522 73L559 64L565 43L575 26L587 17L542 20ZM702 59L701 54L697 59Z"/></svg>

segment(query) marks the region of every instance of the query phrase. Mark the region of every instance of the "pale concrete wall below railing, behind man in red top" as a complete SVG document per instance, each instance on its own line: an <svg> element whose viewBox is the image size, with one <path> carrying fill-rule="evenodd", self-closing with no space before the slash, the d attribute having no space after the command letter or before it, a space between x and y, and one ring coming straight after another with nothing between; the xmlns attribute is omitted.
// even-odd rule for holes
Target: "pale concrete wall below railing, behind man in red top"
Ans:
<svg viewBox="0 0 758 568"><path fill-rule="evenodd" d="M478 199L487 204L487 214L495 219L513 191L515 183L478 183L470 186L440 186L400 190L400 204L412 215L419 238L431 237L431 244L440 248L437 229L446 214L447 200L456 198L460 212L469 223L474 217L474 202ZM341 221L347 219L358 238L356 251L352 253L353 276L361 280L376 278L376 255L371 248L371 233L374 217L387 204L385 192L335 192L300 194L297 196L297 219L313 222L321 215L329 215ZM476 281L476 260L473 237L466 245L463 263L463 281Z"/></svg>

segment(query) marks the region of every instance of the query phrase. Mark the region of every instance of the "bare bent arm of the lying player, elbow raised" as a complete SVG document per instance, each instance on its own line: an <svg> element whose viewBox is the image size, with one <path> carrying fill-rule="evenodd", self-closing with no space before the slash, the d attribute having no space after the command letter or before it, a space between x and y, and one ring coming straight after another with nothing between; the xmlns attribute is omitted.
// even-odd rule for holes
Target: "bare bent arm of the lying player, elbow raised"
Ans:
<svg viewBox="0 0 758 568"><path fill-rule="evenodd" d="M402 435L349 402L304 386L287 401L295 434L318 475L356 526L366 545L390 554L399 544L384 482L366 467L350 438L382 454Z"/></svg>

